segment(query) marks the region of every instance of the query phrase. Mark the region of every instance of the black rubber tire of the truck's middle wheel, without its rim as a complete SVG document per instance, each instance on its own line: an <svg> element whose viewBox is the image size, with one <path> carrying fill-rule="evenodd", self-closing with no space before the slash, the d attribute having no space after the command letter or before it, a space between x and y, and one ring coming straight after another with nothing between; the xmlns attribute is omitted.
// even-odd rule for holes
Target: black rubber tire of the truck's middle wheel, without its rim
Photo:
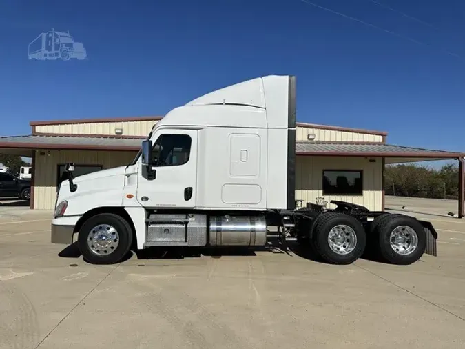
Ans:
<svg viewBox="0 0 465 349"><path fill-rule="evenodd" d="M342 255L329 245L328 237L335 226L347 226L356 237L353 250ZM344 228L344 231L345 228ZM349 232L347 232L349 233ZM350 233L352 234L352 233ZM318 217L312 237L313 246L324 261L331 264L351 264L362 256L366 246L366 233L362 224L355 218L340 212L327 212Z"/></svg>

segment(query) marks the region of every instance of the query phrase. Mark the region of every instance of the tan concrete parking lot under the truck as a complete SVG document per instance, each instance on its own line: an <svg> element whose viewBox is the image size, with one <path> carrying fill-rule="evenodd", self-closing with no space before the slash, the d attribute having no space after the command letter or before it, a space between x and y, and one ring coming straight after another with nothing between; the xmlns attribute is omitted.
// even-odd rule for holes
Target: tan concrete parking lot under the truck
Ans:
<svg viewBox="0 0 465 349"><path fill-rule="evenodd" d="M421 215L439 256L411 266L294 248L92 266L49 242L51 215L0 206L1 349L465 348L463 219Z"/></svg>

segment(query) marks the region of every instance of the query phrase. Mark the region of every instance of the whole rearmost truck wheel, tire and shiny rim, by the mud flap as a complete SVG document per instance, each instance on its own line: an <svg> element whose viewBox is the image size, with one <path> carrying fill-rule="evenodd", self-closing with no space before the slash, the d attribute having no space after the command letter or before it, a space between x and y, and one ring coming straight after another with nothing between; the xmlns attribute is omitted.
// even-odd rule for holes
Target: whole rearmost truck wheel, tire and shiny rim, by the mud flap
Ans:
<svg viewBox="0 0 465 349"><path fill-rule="evenodd" d="M422 257L426 248L426 232L413 217L384 217L376 227L378 252L393 264L411 264Z"/></svg>

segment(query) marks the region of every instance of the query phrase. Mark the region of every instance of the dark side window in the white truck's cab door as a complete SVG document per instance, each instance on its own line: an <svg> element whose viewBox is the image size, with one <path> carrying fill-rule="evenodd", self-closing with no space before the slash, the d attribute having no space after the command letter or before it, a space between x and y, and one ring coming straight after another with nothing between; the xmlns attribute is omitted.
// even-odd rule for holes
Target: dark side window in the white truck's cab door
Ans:
<svg viewBox="0 0 465 349"><path fill-rule="evenodd" d="M192 139L187 134L162 134L152 150L155 166L183 165L189 161Z"/></svg>

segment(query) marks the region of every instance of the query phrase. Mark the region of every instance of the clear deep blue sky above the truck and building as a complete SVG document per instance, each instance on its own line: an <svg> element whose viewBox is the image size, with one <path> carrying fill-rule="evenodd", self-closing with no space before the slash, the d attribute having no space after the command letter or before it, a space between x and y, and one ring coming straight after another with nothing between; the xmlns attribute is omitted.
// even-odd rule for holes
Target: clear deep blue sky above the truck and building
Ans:
<svg viewBox="0 0 465 349"><path fill-rule="evenodd" d="M379 28L301 0L0 1L0 134L28 134L32 120L163 115L231 83L295 74L298 121L465 151L463 1L311 2ZM28 43L50 28L87 59L29 60Z"/></svg>

